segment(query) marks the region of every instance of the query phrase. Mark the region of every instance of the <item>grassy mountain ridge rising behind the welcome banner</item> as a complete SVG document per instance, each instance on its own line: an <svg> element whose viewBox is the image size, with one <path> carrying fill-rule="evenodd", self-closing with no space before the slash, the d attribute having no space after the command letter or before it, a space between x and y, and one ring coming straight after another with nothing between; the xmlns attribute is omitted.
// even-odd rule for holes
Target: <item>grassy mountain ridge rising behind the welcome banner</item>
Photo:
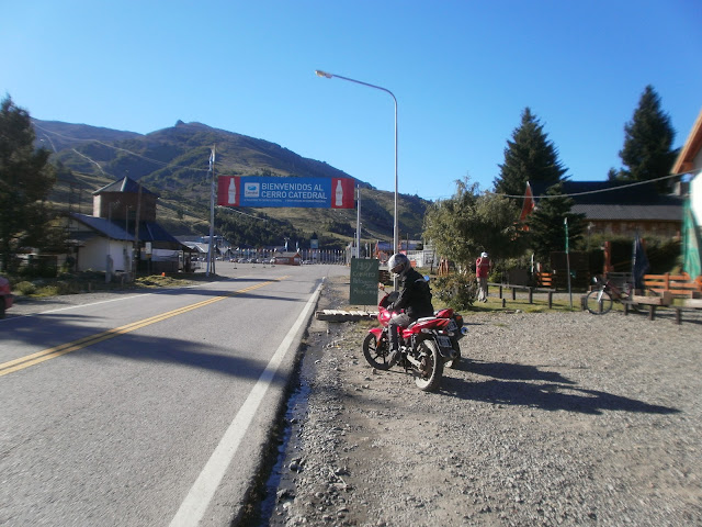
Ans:
<svg viewBox="0 0 702 527"><path fill-rule="evenodd" d="M146 135L57 121L33 120L33 123L37 146L53 150L52 160L59 166L59 184L53 197L57 203L75 208L77 187L89 195L100 186L128 176L159 194L159 222L174 235L207 234L208 159L213 145L217 176L352 178L324 161L302 157L275 143L202 123L178 121L174 126ZM361 188L363 242L390 240L394 193L376 190L359 179L356 183ZM418 197L398 197L403 239L420 237L428 204ZM282 222L301 235L317 233L344 244L352 239L356 225L355 210L217 210L218 217L237 213Z"/></svg>

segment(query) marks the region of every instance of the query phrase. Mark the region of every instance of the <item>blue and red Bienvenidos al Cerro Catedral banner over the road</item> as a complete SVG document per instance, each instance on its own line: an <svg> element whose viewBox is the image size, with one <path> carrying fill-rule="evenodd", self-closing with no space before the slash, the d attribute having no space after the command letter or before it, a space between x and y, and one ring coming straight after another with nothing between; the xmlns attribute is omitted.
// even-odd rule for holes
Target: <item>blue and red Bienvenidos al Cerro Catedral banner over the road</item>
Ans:
<svg viewBox="0 0 702 527"><path fill-rule="evenodd" d="M354 209L352 178L273 178L219 176L222 206Z"/></svg>

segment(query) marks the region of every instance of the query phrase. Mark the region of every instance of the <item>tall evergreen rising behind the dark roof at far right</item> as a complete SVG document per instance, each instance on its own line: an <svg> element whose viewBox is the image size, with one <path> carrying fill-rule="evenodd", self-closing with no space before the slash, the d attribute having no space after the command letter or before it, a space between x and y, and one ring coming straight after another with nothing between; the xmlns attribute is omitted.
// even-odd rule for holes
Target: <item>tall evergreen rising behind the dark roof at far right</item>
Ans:
<svg viewBox="0 0 702 527"><path fill-rule="evenodd" d="M675 135L670 117L660 109L660 97L647 86L634 116L624 125L624 147L619 157L625 168L611 169L609 179L633 182L668 176L677 156L671 149ZM664 179L656 182L656 188L666 192L671 184L670 179Z"/></svg>

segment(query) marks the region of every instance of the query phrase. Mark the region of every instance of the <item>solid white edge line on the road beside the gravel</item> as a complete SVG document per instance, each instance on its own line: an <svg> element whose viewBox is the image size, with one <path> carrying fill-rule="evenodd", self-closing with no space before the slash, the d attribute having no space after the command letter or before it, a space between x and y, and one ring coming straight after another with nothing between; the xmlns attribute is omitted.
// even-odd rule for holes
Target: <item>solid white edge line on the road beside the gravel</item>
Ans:
<svg viewBox="0 0 702 527"><path fill-rule="evenodd" d="M295 335L307 321L309 312L316 305L317 296L319 296L320 291L321 284L317 287L315 293L307 301L305 309L299 314L290 332L287 332L285 338L283 338L283 341L278 347L275 354L273 354L273 357L265 367L265 370L263 370L263 373L259 377L259 380L249 393L249 396L241 405L241 408L239 408L239 412L234 417L234 421L227 428L227 431L225 431L214 452L212 452L210 460L205 463L205 467L202 469L202 472L195 480L195 483L190 489L185 500L181 503L178 513L176 513L176 516L171 520L171 527L196 526L205 515L207 506L217 491L219 483L222 483L222 479L229 468L229 463L231 463L231 460L234 459L251 421L253 421L253 416L256 415L261 401L263 401L263 397L271 385L271 381L280 368L283 357L293 344Z"/></svg>

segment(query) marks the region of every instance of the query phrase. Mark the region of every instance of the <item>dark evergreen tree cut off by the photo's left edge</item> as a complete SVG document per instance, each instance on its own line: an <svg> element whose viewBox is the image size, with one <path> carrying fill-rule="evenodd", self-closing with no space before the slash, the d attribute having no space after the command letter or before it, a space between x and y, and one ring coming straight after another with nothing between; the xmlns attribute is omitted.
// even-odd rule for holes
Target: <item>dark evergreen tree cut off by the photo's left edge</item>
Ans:
<svg viewBox="0 0 702 527"><path fill-rule="evenodd" d="M30 114L10 96L0 103L0 264L12 269L21 247L46 244L49 221L46 199L55 181L49 152L34 148Z"/></svg>

